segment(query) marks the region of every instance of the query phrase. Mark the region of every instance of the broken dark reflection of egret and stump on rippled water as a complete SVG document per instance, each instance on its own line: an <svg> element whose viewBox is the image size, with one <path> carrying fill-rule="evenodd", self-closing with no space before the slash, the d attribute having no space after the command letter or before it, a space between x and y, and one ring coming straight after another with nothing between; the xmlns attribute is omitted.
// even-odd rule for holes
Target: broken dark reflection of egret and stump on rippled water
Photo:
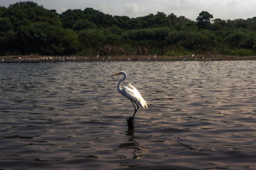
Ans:
<svg viewBox="0 0 256 170"><path fill-rule="evenodd" d="M145 151L147 151L146 149L142 149L141 148L141 144L139 144L139 142L136 142L134 139L136 139L137 137L134 136L134 127L129 127L128 130L126 131L127 136L130 136L127 140L126 143L122 143L121 145L119 145L119 148L122 149L133 149L132 150L132 159L139 159L140 154L144 153Z"/></svg>

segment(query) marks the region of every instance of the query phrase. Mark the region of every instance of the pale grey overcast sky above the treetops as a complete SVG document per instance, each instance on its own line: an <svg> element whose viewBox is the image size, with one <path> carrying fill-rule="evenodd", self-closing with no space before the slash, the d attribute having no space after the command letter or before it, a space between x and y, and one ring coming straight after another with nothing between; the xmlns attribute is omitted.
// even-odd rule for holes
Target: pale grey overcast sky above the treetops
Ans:
<svg viewBox="0 0 256 170"><path fill-rule="evenodd" d="M0 6L8 7L18 1L0 0ZM185 16L193 21L202 11L208 11L213 19L234 20L256 16L256 0L31 0L46 9L62 13L67 9L93 8L105 14L131 18L164 12Z"/></svg>

